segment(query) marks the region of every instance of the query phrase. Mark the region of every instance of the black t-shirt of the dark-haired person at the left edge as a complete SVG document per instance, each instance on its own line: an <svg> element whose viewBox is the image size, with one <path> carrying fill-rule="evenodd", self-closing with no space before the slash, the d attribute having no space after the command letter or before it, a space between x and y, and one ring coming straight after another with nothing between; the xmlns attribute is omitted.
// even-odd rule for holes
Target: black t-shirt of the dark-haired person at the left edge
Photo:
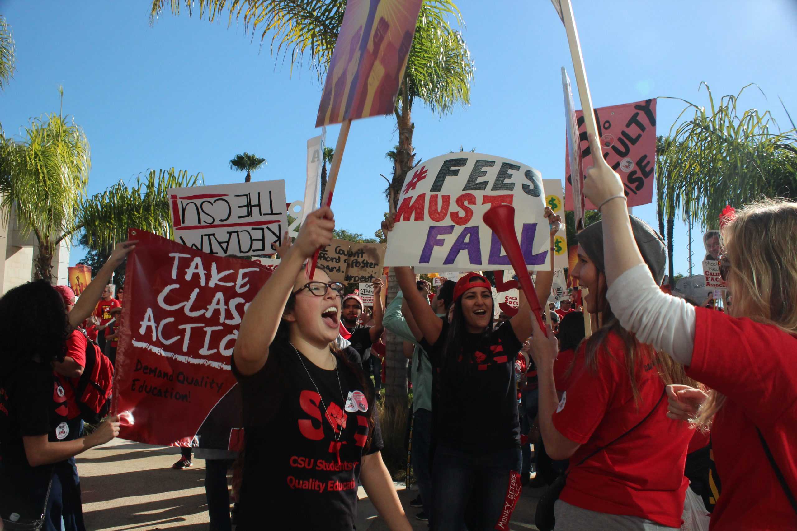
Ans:
<svg viewBox="0 0 797 531"><path fill-rule="evenodd" d="M69 420L72 393L52 367L29 361L0 381L0 458L7 467L29 468L22 437L48 435L50 442L77 439L80 419Z"/></svg>

